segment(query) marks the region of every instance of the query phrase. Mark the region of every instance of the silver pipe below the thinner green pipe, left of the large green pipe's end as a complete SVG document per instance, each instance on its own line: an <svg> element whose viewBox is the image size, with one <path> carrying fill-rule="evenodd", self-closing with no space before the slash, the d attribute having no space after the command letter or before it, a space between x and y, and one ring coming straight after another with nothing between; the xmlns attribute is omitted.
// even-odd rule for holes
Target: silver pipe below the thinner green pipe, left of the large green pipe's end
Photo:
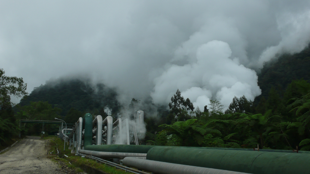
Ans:
<svg viewBox="0 0 310 174"><path fill-rule="evenodd" d="M95 156L98 158L103 158L103 159L111 159L111 158L123 159L128 156L146 157L146 154L142 154L142 153L100 152L100 151L93 151L93 150L80 150L80 153Z"/></svg>

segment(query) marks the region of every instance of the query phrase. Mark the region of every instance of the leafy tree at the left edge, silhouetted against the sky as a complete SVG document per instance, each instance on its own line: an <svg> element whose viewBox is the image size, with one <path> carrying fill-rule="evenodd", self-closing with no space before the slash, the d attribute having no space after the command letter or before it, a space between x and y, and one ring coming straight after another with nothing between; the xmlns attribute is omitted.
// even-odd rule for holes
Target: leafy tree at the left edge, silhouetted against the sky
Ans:
<svg viewBox="0 0 310 174"><path fill-rule="evenodd" d="M12 104L10 96L22 98L28 94L27 84L24 83L23 78L8 77L4 73L5 71L0 69L0 110Z"/></svg>

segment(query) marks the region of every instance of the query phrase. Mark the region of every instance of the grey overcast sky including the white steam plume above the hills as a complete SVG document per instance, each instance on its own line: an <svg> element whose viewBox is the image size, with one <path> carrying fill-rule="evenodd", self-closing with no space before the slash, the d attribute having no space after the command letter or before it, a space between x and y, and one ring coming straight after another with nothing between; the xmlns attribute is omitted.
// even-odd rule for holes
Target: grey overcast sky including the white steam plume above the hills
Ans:
<svg viewBox="0 0 310 174"><path fill-rule="evenodd" d="M30 93L51 78L91 76L120 102L228 107L261 91L254 70L310 41L310 1L2 1L0 68ZM129 100L129 101L128 101Z"/></svg>

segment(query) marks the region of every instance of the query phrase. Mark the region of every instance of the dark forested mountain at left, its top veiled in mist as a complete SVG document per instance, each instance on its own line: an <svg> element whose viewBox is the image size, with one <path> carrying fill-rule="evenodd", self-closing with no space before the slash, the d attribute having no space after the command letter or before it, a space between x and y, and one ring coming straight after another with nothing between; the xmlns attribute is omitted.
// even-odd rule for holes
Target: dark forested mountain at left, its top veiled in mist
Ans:
<svg viewBox="0 0 310 174"><path fill-rule="evenodd" d="M58 79L47 81L45 85L33 89L19 105L23 107L30 102L47 101L53 107L60 108L62 116L67 115L70 110L105 115L105 107L114 112L118 111L119 104L116 97L115 89L104 84L93 86L89 80Z"/></svg>

